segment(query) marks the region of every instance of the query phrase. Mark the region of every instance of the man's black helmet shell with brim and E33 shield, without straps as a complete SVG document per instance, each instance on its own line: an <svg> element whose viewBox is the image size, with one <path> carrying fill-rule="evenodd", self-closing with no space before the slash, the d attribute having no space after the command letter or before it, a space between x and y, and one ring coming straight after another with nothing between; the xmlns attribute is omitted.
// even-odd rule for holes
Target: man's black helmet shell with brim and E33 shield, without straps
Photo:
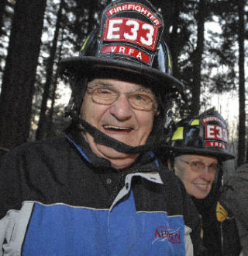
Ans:
<svg viewBox="0 0 248 256"><path fill-rule="evenodd" d="M64 75L88 76L101 69L112 74L126 72L153 89L180 91L182 84L172 75L167 44L162 39L164 21L146 0L119 0L102 13L98 30L84 41L78 57L60 61Z"/></svg>

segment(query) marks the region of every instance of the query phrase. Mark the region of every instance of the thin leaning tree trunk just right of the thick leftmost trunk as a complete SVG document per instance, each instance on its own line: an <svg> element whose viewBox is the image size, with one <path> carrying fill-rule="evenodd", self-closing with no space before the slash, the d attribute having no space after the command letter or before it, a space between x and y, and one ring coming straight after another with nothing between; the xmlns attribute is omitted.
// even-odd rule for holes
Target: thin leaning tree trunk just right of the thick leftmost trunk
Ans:
<svg viewBox="0 0 248 256"><path fill-rule="evenodd" d="M40 107L40 119L38 123L38 128L36 130L36 139L43 139L43 132L46 126L47 100L49 98L50 85L53 79L53 63L54 63L55 54L57 50L57 40L60 32L60 23L61 23L63 7L64 7L64 0L61 0L60 8L57 13L57 22L56 22L56 28L55 28L54 37L53 37L53 44L50 49L50 56L47 61L46 83L44 85L44 90L43 90L43 97L42 97L42 102Z"/></svg>

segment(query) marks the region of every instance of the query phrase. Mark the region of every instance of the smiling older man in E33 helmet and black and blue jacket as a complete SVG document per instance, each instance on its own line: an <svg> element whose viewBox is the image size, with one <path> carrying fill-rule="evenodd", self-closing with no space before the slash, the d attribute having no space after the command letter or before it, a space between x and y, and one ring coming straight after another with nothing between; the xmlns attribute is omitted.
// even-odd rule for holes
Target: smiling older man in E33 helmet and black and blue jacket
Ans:
<svg viewBox="0 0 248 256"><path fill-rule="evenodd" d="M146 0L112 2L81 55L61 61L71 125L2 160L0 255L202 254L194 205L152 151L182 87L163 26Z"/></svg>

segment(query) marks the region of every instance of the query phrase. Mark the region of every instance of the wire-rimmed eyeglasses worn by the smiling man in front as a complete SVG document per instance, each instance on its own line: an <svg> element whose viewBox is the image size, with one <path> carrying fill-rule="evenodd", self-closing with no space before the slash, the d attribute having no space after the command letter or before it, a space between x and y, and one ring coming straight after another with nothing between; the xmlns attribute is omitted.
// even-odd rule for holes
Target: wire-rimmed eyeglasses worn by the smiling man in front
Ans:
<svg viewBox="0 0 248 256"><path fill-rule="evenodd" d="M87 92L91 94L95 103L103 105L111 105L121 95L121 92L108 84L88 87ZM149 89L140 88L124 94L126 94L130 106L137 110L150 111L156 109L155 96Z"/></svg>

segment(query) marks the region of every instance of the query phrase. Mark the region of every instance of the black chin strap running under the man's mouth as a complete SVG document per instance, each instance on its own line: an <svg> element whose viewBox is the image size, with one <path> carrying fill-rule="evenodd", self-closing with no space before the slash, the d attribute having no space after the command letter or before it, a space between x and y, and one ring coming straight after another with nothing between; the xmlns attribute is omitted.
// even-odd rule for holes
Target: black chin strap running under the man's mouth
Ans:
<svg viewBox="0 0 248 256"><path fill-rule="evenodd" d="M164 139L163 140L161 139L158 142L146 143L143 146L135 146L135 147L129 146L123 142L119 142L118 140L113 139L112 137L109 137L108 135L105 135L105 133L99 131L93 125L89 124L84 119L77 117L76 115L74 115L72 118L74 121L77 122L77 124L82 124L84 129L88 133L90 133L91 136L95 139L96 143L108 146L122 153L136 154L136 153L144 153L150 150L153 151L157 148L157 146L164 143Z"/></svg>

